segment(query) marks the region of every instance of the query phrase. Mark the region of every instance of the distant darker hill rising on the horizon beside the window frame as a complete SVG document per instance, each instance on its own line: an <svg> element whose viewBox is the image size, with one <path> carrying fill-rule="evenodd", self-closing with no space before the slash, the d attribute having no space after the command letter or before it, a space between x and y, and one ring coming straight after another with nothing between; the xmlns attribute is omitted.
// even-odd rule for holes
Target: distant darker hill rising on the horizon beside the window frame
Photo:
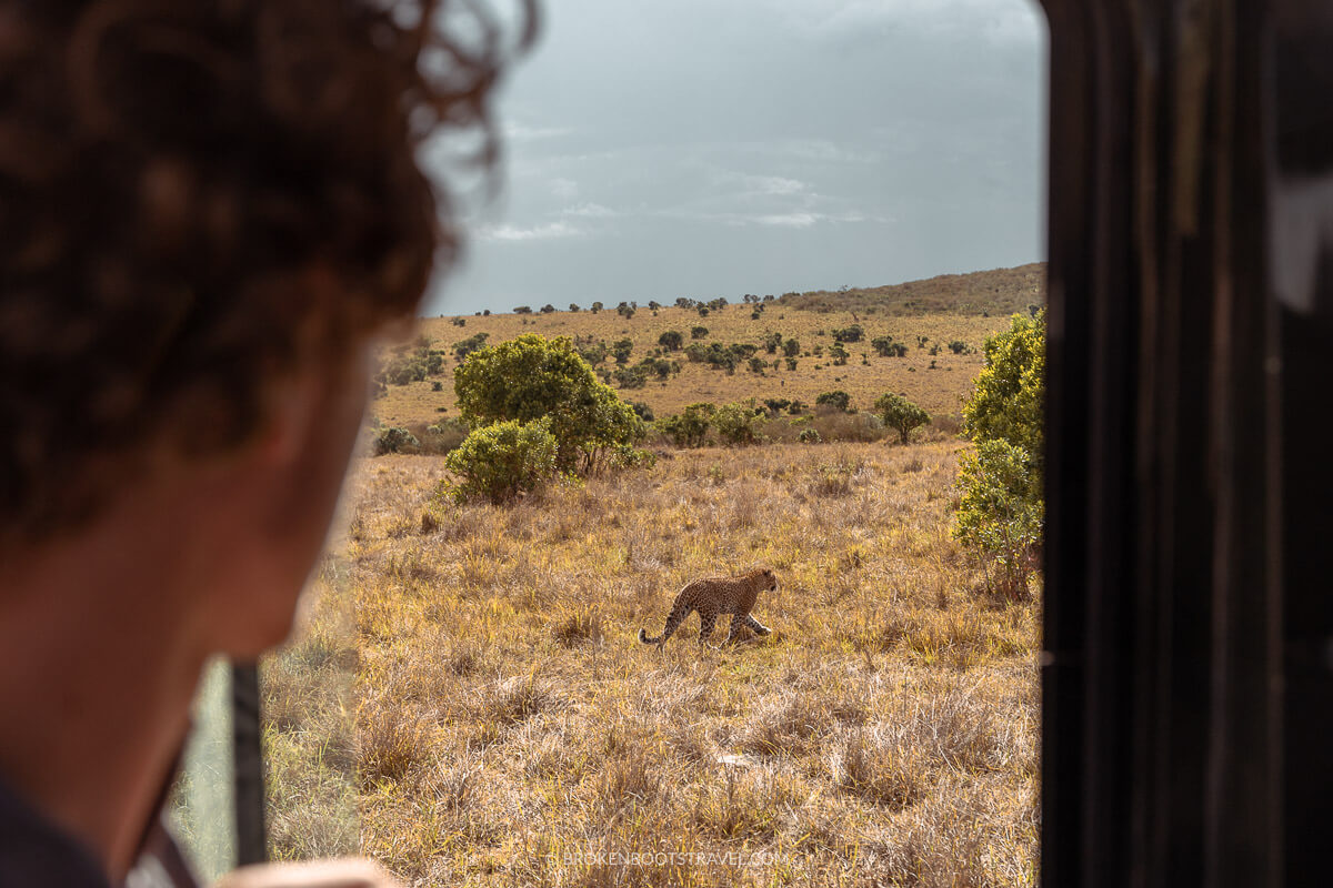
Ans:
<svg viewBox="0 0 1333 888"><path fill-rule="evenodd" d="M1008 316L1046 304L1046 264L941 274L890 286L788 293L778 305L809 312L856 312L896 317L924 314Z"/></svg>

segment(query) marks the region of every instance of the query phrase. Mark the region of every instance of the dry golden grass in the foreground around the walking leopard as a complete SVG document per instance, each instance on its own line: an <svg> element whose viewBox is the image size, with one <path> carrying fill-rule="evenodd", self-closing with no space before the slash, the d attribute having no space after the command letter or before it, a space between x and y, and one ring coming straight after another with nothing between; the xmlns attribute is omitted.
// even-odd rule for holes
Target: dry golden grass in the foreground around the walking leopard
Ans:
<svg viewBox="0 0 1333 888"><path fill-rule="evenodd" d="M1034 884L1037 604L974 591L957 446L690 451L507 510L433 503L436 458L364 461L267 671L276 853L420 885ZM635 639L758 563L773 635ZM312 813L349 804L352 833Z"/></svg>

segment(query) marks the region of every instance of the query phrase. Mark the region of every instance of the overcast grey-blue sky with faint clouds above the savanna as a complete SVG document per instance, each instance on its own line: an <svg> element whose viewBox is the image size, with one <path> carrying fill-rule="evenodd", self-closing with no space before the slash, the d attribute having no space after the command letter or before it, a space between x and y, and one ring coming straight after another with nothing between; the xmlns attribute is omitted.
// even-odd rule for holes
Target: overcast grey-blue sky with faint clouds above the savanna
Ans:
<svg viewBox="0 0 1333 888"><path fill-rule="evenodd" d="M738 300L1045 254L1029 0L547 0L427 314Z"/></svg>

